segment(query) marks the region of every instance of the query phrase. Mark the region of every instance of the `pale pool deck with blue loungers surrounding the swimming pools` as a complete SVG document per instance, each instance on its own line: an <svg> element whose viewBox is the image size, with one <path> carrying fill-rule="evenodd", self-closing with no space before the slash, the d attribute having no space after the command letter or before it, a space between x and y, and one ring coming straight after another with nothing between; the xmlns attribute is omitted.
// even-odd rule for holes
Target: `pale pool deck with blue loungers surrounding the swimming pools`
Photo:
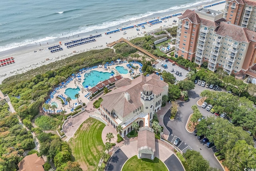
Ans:
<svg viewBox="0 0 256 171"><path fill-rule="evenodd" d="M128 69L128 67L126 66L128 63L121 63L121 64L117 64L117 65L112 65L112 66L108 66L106 69L104 68L104 65L102 65L102 68L95 68L95 69L92 69L92 70L90 70L90 71L102 71L102 72L108 72L108 73L111 73L112 72L112 68L116 68L117 66L122 66L122 67L124 67L125 69L127 69L128 71L129 71L129 69ZM133 63L133 65L134 66L138 66L139 68L140 68L140 65L139 64L137 64L137 63ZM88 73L88 72L90 72L90 71L81 71L81 72L78 72L78 73L80 73L80 75L81 75L81 77L80 77L80 79L81 80L78 80L78 78L76 78L76 79L73 79L73 81L70 81L70 83L68 83L68 85L66 85L65 87L63 87L63 88L60 88L59 90L57 90L56 91L56 93L54 94L54 98L52 98L49 102L48 102L48 104L51 104L51 102L57 102L57 104L58 104L58 108L56 108L55 109L55 111L57 111L57 110L66 110L67 112L66 112L66 114L69 114L70 112L71 112L71 110L72 110L72 108L74 108L74 106L76 106L76 105L78 105L78 104L83 104L83 103L85 103L86 105L90 102L90 100L88 99L88 96L87 97L85 97L85 95L86 94L88 94L88 93L90 93L89 92L89 90L90 90L90 88L92 88L92 87L88 87L89 89L88 90L86 90L86 88L82 88L83 86L82 86L82 83L83 83L83 81L84 81L84 74L85 73ZM139 69L137 70L137 73L136 73L136 70L134 70L134 74L139 74L140 72L139 72ZM119 73L118 73L119 74ZM130 73L127 73L127 74L120 74L123 78L130 78L130 79L132 79L132 77L134 76L130 76ZM114 76L117 76L116 75L116 73L114 74ZM77 100L77 99L71 99L71 101L70 101L70 106L69 106L69 104L67 104L67 105L65 105L65 106L62 106L62 104L61 104L61 102L60 102L60 100L58 100L56 97L58 96L58 95L62 95L62 96L64 96L65 98L67 98L67 96L66 96L66 94L64 93L65 92L65 90L67 89L67 88L77 88L77 86L80 88L80 91L79 91L79 94L80 94L80 97L78 98L79 99L79 101ZM83 91L83 89L85 90L85 91Z"/></svg>

